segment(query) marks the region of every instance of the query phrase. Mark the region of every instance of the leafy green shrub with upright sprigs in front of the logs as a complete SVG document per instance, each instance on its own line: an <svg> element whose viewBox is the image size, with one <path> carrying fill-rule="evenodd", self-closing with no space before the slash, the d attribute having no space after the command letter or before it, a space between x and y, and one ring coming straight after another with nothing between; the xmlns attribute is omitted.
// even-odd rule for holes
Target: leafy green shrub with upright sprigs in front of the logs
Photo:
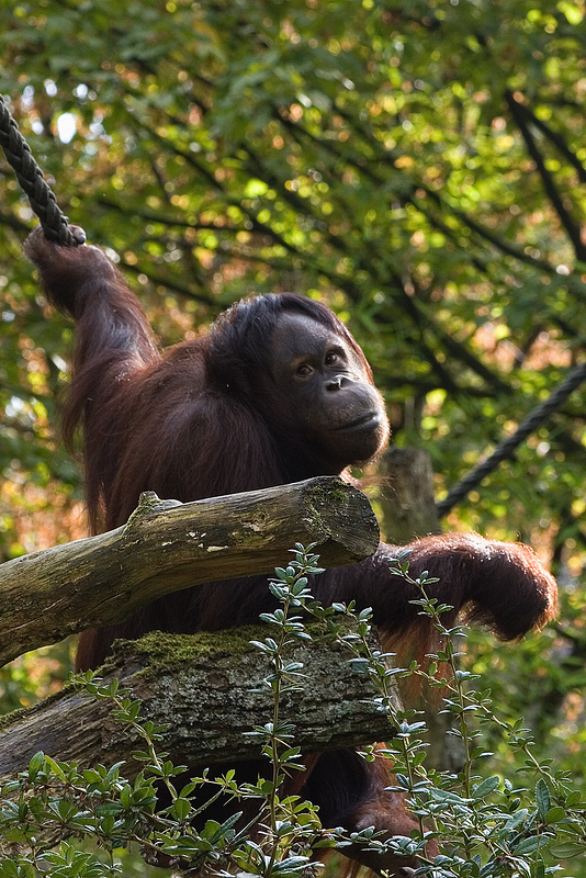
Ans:
<svg viewBox="0 0 586 878"><path fill-rule="evenodd" d="M180 870L205 866L212 874L243 878L309 876L319 868L312 859L314 852L335 847L343 853L352 843L416 854L421 860L418 874L436 878L544 878L561 869L561 860L586 854L586 802L565 775L534 756L521 720L499 719L489 694L472 688L476 676L460 668L455 646L462 630L442 626L447 608L426 597L425 575L413 581L406 559L394 562L394 572L418 585L420 611L431 617L444 645L430 656L429 667L414 663L397 668L390 654L372 645L370 610L357 612L351 604L323 607L313 600L308 576L319 567L311 549L297 547L288 567L275 571L269 587L281 606L262 615L269 633L253 641L272 665L263 680L273 696L272 717L250 731L272 767L269 776L241 784L234 772L222 777L204 772L187 785L179 781L185 766L173 765L162 750L165 729L144 722L140 703L120 690L116 680L104 686L90 672L78 677L78 684L88 697L111 701L112 716L138 733L143 750L133 755L143 768L129 780L121 775L121 763L83 768L37 753L29 769L1 789L0 878L121 875L120 853L132 845L138 845L147 863ZM356 673L375 683L376 702L390 720L390 743L383 751L377 748L376 755L373 747L367 748L363 757L392 759L395 788L406 793L419 824L410 837L384 838L372 829L361 833L325 829L314 806L281 795L285 776L303 769L294 727L281 719L280 705L284 695L303 685L303 666L288 661L286 648L295 639L311 638L307 617L319 619L329 635L348 649ZM440 668L450 673L441 676ZM426 768L425 723L415 711L396 709L395 678L408 674L420 675L443 691L443 710L453 718L451 734L460 739L464 753L457 775ZM481 743L486 723L498 725L507 735L522 764L521 778L483 770L492 755ZM157 807L160 785L169 801L162 808ZM235 802L234 813L223 823L205 819L207 804L219 796ZM253 817L241 825L241 804L250 800ZM431 837L441 851L433 862L425 852Z"/></svg>

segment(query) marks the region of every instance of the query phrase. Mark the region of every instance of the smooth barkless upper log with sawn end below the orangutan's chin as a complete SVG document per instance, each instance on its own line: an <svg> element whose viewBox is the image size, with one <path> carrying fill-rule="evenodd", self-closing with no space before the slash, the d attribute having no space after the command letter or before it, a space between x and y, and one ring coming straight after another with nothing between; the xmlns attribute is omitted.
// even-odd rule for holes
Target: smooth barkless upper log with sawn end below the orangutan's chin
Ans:
<svg viewBox="0 0 586 878"><path fill-rule="evenodd" d="M124 527L0 566L0 665L171 592L270 573L296 542L343 566L375 551L379 526L364 495L329 476L188 504L146 494Z"/></svg>

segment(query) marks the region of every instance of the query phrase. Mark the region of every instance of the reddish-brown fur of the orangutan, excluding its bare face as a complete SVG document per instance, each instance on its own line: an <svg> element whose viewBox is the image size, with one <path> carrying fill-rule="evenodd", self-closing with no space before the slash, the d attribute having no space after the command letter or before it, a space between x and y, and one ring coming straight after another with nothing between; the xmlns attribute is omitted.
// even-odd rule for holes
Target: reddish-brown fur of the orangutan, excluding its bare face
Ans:
<svg viewBox="0 0 586 878"><path fill-rule="evenodd" d="M343 325L322 305L302 296L267 296L235 305L207 336L161 356L146 316L122 275L94 247L67 249L41 230L26 243L47 297L75 317L74 380L64 426L70 442L84 430L88 508L94 530L123 524L140 491L191 500L339 472L297 440L294 425L281 424L279 387L264 395L259 378L269 365L270 339L283 313L308 315L351 346L372 385L362 351ZM263 372L264 370L264 372ZM409 572L429 571L439 582L430 596L461 609L469 619L516 639L543 624L555 608L555 583L526 545L476 534L427 537L407 547ZM385 638L399 638L425 653L429 622L409 601L418 597L388 572L396 547L352 567L327 571L313 583L319 600L356 600L371 606ZM263 578L198 586L156 601L109 629L84 632L78 665L94 667L116 637L153 629L216 630L258 620L272 600ZM390 834L414 826L396 793L385 791L382 759L363 762L354 752L324 754L307 773L303 795L319 803L327 825L354 829L369 823ZM382 767L383 766L383 767ZM350 852L364 862L360 852ZM431 851L430 851L431 853ZM401 864L370 864L398 868Z"/></svg>

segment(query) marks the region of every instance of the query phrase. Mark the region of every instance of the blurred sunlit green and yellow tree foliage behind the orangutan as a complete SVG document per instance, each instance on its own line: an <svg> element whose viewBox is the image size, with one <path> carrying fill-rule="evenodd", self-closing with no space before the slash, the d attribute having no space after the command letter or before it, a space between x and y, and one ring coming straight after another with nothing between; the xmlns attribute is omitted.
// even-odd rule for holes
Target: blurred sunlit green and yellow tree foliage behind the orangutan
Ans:
<svg viewBox="0 0 586 878"><path fill-rule="evenodd" d="M249 292L327 302L367 351L395 442L432 454L440 499L584 357L584 12L577 0L8 2L0 91L162 342ZM82 536L84 521L56 431L71 327L38 294L21 249L34 221L5 164L0 178L7 560ZM584 393L443 521L529 541L559 575L557 623L514 648L474 633L467 661L578 786ZM59 686L68 655L0 672L2 709ZM511 774L489 744L491 769Z"/></svg>

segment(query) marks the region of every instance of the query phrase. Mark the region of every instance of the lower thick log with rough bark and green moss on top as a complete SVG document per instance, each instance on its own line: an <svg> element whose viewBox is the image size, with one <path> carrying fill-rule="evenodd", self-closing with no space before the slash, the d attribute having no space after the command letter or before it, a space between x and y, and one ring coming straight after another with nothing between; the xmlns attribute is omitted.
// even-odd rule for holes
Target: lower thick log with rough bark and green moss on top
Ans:
<svg viewBox="0 0 586 878"><path fill-rule="evenodd" d="M271 664L249 641L271 633L259 626L193 635L155 632L119 641L100 676L104 682L120 678L121 687L143 701L144 718L169 723L165 750L176 764L257 758L259 744L246 732L272 719L272 695L260 686ZM306 676L300 679L300 691L283 698L281 717L293 723L295 744L304 753L388 734L388 722L372 701L370 678L352 671L346 648L313 630L313 640L297 641L288 655L303 663ZM139 765L131 753L140 742L111 718L111 702L69 687L2 718L0 780L23 770L38 751L83 766L124 761L124 773L133 776Z"/></svg>

